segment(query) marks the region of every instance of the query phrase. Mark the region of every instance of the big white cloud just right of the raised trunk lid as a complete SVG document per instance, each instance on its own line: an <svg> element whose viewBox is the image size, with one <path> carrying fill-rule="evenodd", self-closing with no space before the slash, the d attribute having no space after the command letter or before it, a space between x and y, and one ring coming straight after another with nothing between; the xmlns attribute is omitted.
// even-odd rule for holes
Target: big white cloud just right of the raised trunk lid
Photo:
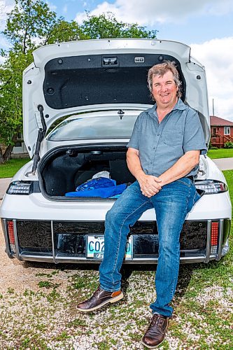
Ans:
<svg viewBox="0 0 233 350"><path fill-rule="evenodd" d="M209 106L212 115L233 121L233 36L191 44L191 54L206 68Z"/></svg>

